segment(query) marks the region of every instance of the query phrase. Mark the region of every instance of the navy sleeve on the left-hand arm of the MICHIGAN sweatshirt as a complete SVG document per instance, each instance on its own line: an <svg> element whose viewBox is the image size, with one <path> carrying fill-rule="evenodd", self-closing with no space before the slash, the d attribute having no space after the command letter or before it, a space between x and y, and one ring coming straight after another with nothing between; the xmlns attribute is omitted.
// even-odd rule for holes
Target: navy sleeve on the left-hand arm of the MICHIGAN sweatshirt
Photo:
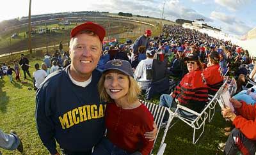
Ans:
<svg viewBox="0 0 256 155"><path fill-rule="evenodd" d="M49 85L48 85L49 86ZM45 83L36 92L36 128L43 144L51 154L56 154L56 142L54 138L54 123L51 120L51 89Z"/></svg>

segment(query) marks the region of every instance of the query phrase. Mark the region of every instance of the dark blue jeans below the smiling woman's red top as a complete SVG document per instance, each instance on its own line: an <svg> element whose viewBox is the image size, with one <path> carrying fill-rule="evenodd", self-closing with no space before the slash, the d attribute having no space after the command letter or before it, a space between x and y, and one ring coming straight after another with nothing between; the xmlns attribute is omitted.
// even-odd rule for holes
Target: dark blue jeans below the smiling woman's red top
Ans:
<svg viewBox="0 0 256 155"><path fill-rule="evenodd" d="M108 140L108 138L103 138L102 142L100 142L97 147L95 147L92 155L142 155L140 152L129 153L123 149L120 149L112 142Z"/></svg>

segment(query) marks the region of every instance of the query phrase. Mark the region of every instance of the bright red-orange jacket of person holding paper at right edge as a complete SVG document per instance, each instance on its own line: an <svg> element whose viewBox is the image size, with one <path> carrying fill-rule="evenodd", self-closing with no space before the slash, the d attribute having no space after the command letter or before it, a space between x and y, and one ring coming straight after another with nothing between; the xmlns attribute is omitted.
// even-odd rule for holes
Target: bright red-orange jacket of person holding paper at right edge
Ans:
<svg viewBox="0 0 256 155"><path fill-rule="evenodd" d="M241 103L242 107L236 108L238 115L233 124L245 137L256 140L256 104L253 106L247 105L244 101L241 101Z"/></svg>

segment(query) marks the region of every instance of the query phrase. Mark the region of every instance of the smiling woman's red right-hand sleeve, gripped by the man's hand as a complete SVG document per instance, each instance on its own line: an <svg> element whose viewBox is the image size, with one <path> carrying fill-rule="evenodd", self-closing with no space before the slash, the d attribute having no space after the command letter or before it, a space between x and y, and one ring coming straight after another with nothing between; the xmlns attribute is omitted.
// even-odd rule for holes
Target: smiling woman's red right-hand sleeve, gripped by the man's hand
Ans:
<svg viewBox="0 0 256 155"><path fill-rule="evenodd" d="M154 118L150 112L148 112L147 114L149 119L147 119L147 122L145 122L146 123L145 126L143 126L143 131L145 132L152 131L154 129L153 128ZM143 155L148 155L153 148L154 141L149 141L147 138L144 137L144 133L142 134L143 134L142 135L143 147L140 149L140 152Z"/></svg>

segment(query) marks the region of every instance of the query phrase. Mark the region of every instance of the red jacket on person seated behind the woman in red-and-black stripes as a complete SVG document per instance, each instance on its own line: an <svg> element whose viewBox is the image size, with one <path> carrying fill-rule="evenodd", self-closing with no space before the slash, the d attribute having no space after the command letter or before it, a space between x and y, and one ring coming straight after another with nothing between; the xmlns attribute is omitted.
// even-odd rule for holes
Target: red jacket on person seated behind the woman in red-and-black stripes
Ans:
<svg viewBox="0 0 256 155"><path fill-rule="evenodd" d="M204 69L204 78L206 80L209 94L216 94L223 84L223 75L219 64L214 64Z"/></svg>

